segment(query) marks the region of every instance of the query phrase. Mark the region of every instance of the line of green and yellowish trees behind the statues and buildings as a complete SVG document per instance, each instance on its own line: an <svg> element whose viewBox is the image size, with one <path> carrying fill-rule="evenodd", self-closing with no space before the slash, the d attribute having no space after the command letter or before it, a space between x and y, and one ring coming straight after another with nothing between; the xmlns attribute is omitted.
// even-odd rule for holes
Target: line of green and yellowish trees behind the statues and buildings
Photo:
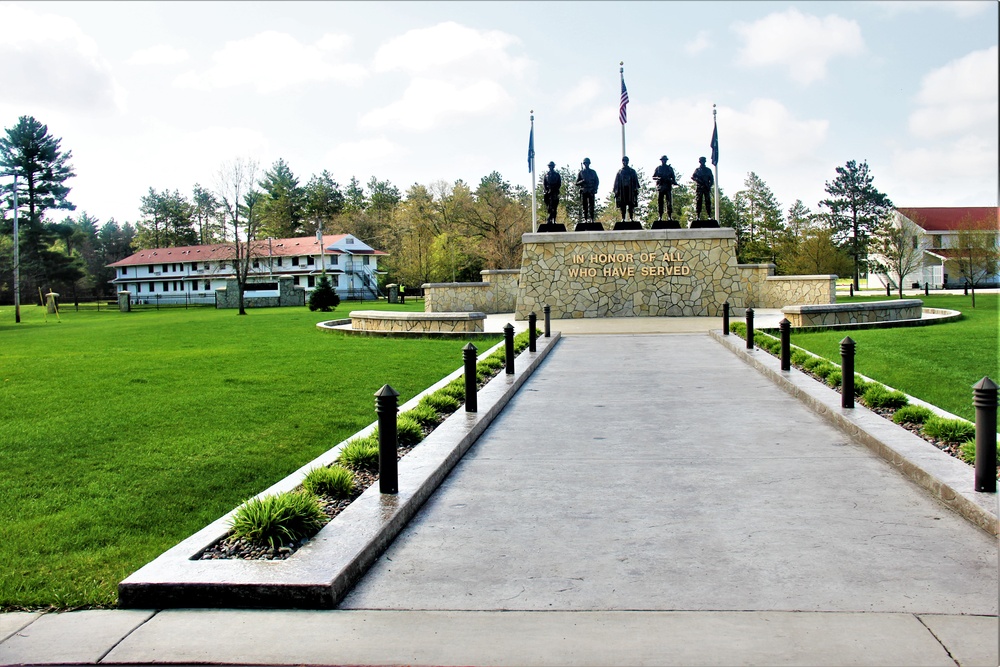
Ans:
<svg viewBox="0 0 1000 667"><path fill-rule="evenodd" d="M150 187L140 197L134 224L113 219L101 224L86 212L55 222L51 217L57 211L75 210L66 185L75 175L72 152L60 144L30 116L0 137L0 173L20 177L22 294L38 287L106 294L114 277L106 265L142 248L229 243L249 267L248 241L317 232L353 234L389 253L380 263L388 272L387 282L477 281L483 269L518 267L521 235L531 231L531 192L495 171L475 185L438 180L401 191L374 176L365 184L352 176L341 186L327 170L303 183L284 159L263 172L252 160L227 162L213 184L196 183L189 194ZM563 189L557 221L572 229L581 218L577 170L565 165L558 171ZM657 217L655 190L643 170L637 172L637 215L652 222ZM9 300L13 186L3 188L0 299ZM540 183L537 188L541 202ZM857 287L859 276L874 268L869 267L873 244L881 257L892 251L886 236L893 204L874 186L864 161L837 167L825 191L828 196L813 211L801 200L783 209L755 172L731 197L720 190L717 218L736 232L738 261L773 263L779 275L852 276ZM674 217L688 226L695 217L693 187L675 186L673 202ZM610 229L618 216L608 193L598 204L597 220ZM239 273L242 286L246 276Z"/></svg>

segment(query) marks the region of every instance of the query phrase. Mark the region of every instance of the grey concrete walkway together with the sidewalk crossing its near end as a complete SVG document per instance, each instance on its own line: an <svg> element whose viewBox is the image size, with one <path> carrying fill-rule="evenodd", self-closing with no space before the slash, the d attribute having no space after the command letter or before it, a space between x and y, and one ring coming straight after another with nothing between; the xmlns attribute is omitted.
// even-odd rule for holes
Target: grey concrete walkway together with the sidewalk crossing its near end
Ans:
<svg viewBox="0 0 1000 667"><path fill-rule="evenodd" d="M995 539L708 336L567 335L339 609L3 614L0 664L993 666L997 598Z"/></svg>

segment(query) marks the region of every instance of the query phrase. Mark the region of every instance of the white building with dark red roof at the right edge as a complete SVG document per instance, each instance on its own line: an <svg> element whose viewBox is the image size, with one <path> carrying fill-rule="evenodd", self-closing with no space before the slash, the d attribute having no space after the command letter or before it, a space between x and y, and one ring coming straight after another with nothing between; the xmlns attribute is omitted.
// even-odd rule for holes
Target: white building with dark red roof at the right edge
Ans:
<svg viewBox="0 0 1000 667"><path fill-rule="evenodd" d="M903 288L912 289L928 285L931 289L961 288L964 283L955 265L958 255L959 232L971 229L977 233L1000 235L1000 216L996 206L960 206L898 208L894 213L894 225L913 225L917 230L915 247L922 250L922 258L917 269L903 279ZM872 259L877 260L877 255ZM996 285L1000 276L993 273L980 284ZM872 272L869 286L895 284L895 277Z"/></svg>

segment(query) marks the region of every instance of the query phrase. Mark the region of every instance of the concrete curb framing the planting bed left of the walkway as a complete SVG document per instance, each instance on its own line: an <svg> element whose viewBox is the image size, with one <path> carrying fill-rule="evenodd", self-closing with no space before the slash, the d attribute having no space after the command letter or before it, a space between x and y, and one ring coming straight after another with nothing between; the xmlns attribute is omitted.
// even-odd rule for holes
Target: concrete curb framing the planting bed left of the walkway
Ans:
<svg viewBox="0 0 1000 667"><path fill-rule="evenodd" d="M141 609L334 607L500 414L558 340L558 332L551 338L539 338L537 352L526 350L517 357L513 375L501 373L479 391L479 412L459 410L453 413L404 456L399 463L398 494L383 495L377 484L372 485L309 543L285 560L195 560L205 548L225 536L234 509L122 581L118 585L119 606ZM424 393L437 390L461 374L460 368ZM415 406L420 396L408 401L400 411ZM374 426L352 437L367 435ZM328 465L336 459L343 444L259 496L295 488L310 469Z"/></svg>

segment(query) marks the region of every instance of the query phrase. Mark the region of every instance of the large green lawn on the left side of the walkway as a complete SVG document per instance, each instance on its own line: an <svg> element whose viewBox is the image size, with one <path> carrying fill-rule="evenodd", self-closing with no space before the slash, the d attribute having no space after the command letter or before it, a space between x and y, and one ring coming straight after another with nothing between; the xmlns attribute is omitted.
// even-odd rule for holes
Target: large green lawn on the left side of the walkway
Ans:
<svg viewBox="0 0 1000 667"><path fill-rule="evenodd" d="M0 307L0 608L117 583L462 364L466 340L348 337L306 308ZM499 337L477 341L481 351Z"/></svg>

